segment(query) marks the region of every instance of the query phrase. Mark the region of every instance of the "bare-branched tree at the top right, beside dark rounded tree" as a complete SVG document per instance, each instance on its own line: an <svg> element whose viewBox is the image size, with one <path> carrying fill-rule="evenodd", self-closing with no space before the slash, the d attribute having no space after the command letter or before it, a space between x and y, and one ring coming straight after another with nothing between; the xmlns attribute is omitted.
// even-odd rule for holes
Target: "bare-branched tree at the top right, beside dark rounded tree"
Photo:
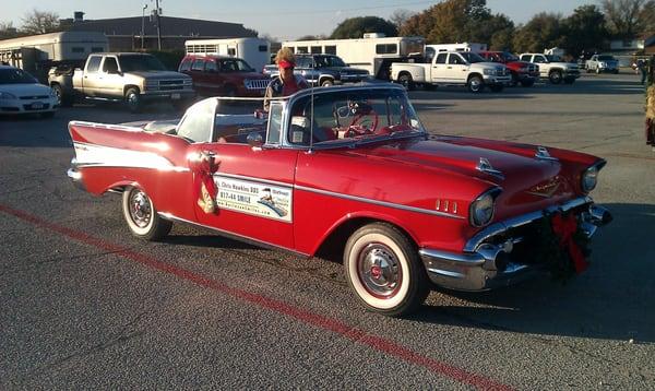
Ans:
<svg viewBox="0 0 655 391"><path fill-rule="evenodd" d="M630 38L643 28L640 13L646 0L602 0L609 29L617 37Z"/></svg>

